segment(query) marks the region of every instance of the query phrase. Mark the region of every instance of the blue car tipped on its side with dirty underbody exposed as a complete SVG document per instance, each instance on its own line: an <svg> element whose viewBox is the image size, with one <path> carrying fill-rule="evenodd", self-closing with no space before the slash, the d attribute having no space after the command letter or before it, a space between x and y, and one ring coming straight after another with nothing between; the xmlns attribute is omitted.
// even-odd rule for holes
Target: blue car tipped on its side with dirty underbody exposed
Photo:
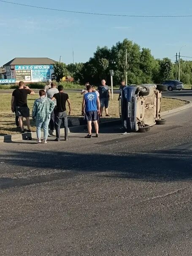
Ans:
<svg viewBox="0 0 192 256"><path fill-rule="evenodd" d="M124 86L119 97L119 115L127 132L146 132L150 126L165 124L160 116L162 84Z"/></svg>

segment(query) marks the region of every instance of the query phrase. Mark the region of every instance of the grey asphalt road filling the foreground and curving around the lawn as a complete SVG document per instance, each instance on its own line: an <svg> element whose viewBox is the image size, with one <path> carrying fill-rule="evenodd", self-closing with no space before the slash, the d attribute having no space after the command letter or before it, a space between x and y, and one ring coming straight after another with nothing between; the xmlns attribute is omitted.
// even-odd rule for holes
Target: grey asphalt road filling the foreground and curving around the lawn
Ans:
<svg viewBox="0 0 192 256"><path fill-rule="evenodd" d="M192 255L192 109L166 119L0 144L0 255Z"/></svg>

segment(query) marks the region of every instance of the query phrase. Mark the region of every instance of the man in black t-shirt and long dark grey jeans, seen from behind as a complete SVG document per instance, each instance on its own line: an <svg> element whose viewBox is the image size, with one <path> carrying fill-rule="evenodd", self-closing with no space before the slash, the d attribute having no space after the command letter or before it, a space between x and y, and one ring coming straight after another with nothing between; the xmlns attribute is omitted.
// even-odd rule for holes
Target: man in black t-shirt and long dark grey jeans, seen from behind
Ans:
<svg viewBox="0 0 192 256"><path fill-rule="evenodd" d="M65 128L65 140L68 140L68 114L66 111L66 101L69 106L69 115L71 114L71 104L69 96L67 93L63 92L63 86L58 86L59 93L53 95L51 100L57 100L57 106L55 108L55 130L56 130L56 139L55 141L60 140L60 126L63 122Z"/></svg>

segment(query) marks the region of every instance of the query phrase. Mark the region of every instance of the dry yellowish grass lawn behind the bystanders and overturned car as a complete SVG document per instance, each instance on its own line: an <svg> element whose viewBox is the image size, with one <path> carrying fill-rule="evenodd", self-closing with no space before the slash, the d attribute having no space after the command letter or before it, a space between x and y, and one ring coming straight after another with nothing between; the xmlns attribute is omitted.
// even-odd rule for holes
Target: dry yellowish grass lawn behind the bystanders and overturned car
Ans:
<svg viewBox="0 0 192 256"><path fill-rule="evenodd" d="M72 105L72 114L71 117L81 117L81 103L83 97L80 93L68 93L71 105ZM36 95L28 95L27 104L30 108L30 113L32 113L32 106L34 100L38 98L38 94ZM102 117L100 120L102 121L111 121L116 118L119 118L119 102L117 100L118 94L114 95L114 100L110 100L109 103L109 114L111 117ZM168 98L162 98L161 111L166 111L170 109L175 109L179 106L183 106L185 104L184 101L174 100ZM67 107L68 110L68 107ZM25 123L25 122L24 122ZM36 131L35 124L33 120L31 120L31 130ZM11 111L11 94L1 94L0 100L0 135L6 134L16 134L15 126L15 114Z"/></svg>

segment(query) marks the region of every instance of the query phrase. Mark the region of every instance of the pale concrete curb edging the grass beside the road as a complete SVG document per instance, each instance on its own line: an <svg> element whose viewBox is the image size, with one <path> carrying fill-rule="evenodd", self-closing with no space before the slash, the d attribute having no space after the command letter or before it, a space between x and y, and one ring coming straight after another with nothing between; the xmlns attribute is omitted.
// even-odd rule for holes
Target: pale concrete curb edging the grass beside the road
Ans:
<svg viewBox="0 0 192 256"><path fill-rule="evenodd" d="M168 115L168 114L173 114L173 113L176 113L178 111L181 111L181 110L188 109L188 108L192 107L192 101L183 100L183 99L179 99L179 98L173 98L173 97L167 97L167 98L174 99L174 100L186 101L187 104L184 105L184 106L178 107L177 109L171 109L171 110L163 111L163 112L161 112L161 116L165 116L165 115ZM100 127L119 125L119 124L121 124L121 122L122 121L121 121L120 118L118 118L117 120L114 120L114 121L101 122ZM68 132L69 133L78 133L78 132L83 131L83 129L86 126L87 125L78 125L78 126L69 127ZM61 134L64 134L64 128L61 128L60 132L61 132ZM55 130L54 130L54 135L55 135ZM41 136L43 136L43 131L41 131ZM0 142L9 143L9 142L14 142L14 141L25 139L26 137L36 138L36 132L0 136Z"/></svg>

